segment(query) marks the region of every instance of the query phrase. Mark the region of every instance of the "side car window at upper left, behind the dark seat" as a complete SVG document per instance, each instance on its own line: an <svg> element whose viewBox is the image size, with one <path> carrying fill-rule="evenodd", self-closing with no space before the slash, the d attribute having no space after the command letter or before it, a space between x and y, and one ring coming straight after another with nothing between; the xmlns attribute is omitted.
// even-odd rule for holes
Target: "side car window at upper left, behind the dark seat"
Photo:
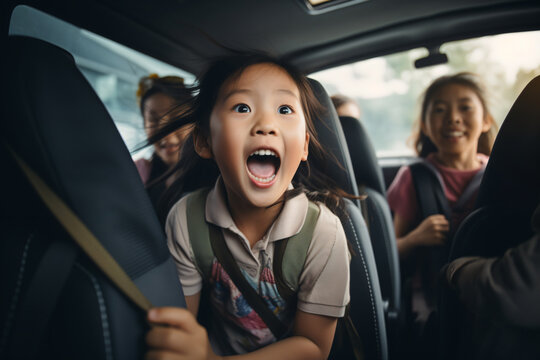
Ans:
<svg viewBox="0 0 540 360"><path fill-rule="evenodd" d="M17 6L11 16L10 35L45 40L70 52L97 95L105 104L126 146L136 149L146 140L137 104L139 79L150 73L175 75L189 85L195 76L126 46L80 29L34 8ZM146 148L134 158L148 156Z"/></svg>

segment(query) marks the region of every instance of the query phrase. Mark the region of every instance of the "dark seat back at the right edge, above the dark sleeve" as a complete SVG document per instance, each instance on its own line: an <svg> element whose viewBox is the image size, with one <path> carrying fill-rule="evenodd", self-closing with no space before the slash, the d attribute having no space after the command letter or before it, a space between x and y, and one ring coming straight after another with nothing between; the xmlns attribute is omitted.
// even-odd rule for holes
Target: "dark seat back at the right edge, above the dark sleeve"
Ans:
<svg viewBox="0 0 540 360"><path fill-rule="evenodd" d="M481 237L456 238L451 259L500 256L532 235L530 218L540 201L539 96L537 76L516 99L495 139L475 208L496 222L482 228Z"/></svg>

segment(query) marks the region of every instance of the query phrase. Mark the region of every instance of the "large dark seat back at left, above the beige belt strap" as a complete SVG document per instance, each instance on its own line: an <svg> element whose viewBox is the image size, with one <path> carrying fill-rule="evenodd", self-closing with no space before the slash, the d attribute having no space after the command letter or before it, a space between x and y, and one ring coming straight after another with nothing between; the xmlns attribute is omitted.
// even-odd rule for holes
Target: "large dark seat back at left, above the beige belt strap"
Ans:
<svg viewBox="0 0 540 360"><path fill-rule="evenodd" d="M74 210L132 279L170 260L131 155L73 57L59 47L21 36L8 38L6 53L10 56L5 82L10 89L1 142ZM14 177L18 170L9 174ZM14 184L12 192L33 192L25 183ZM32 204L17 201L13 211L24 206L26 214L34 211ZM155 292L145 295L155 304L164 303Z"/></svg>

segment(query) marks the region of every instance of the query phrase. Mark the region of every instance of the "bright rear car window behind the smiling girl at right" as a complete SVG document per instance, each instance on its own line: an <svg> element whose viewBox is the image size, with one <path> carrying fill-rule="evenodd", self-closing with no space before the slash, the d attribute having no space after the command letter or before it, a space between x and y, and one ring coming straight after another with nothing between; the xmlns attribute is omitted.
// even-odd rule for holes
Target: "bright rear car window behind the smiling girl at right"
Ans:
<svg viewBox="0 0 540 360"><path fill-rule="evenodd" d="M407 139L419 114L421 92L435 78L460 71L483 79L489 108L500 125L525 85L540 75L540 31L520 32L443 44L449 62L422 69L414 61L424 48L359 61L311 74L330 95L355 99L377 156L414 155Z"/></svg>

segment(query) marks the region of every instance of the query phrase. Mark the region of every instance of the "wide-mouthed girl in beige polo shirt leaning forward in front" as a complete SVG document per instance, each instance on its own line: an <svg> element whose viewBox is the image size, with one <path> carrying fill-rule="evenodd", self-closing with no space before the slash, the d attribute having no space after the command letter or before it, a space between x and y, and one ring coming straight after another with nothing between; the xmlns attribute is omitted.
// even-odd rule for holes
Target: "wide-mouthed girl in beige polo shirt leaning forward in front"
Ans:
<svg viewBox="0 0 540 360"><path fill-rule="evenodd" d="M325 359L349 301L349 253L342 225L327 207L337 210L346 194L306 164L308 153L324 158L312 123L320 105L304 76L261 55L217 61L199 88L192 112L175 125L194 122L195 128L171 190L185 192L185 180L204 159L217 164L220 175L212 180L205 220L219 228L244 277L289 330L276 338L217 259L209 281L210 309L202 311L211 312L220 331L211 327L207 334L197 323L203 277L189 239L191 194L173 206L166 225L187 310L149 312L149 321L160 326L147 335L147 358ZM296 289L297 305L287 309L273 274L274 248L300 231L310 201L317 201L320 212Z"/></svg>

